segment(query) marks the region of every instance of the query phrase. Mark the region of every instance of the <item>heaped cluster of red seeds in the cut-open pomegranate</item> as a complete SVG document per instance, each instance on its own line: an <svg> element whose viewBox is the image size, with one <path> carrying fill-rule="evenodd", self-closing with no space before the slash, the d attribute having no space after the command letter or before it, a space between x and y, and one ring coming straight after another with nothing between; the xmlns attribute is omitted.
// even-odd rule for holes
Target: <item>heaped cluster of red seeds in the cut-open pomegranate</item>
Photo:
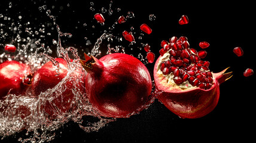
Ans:
<svg viewBox="0 0 256 143"><path fill-rule="evenodd" d="M162 61L160 70L164 75L173 74L173 81L180 85L188 81L192 86L201 89L210 89L213 82L211 71L209 71L209 61L203 61L207 52L190 48L190 44L185 36L179 39L173 36L169 42L161 42L160 54L163 56L169 52L169 59Z"/></svg>

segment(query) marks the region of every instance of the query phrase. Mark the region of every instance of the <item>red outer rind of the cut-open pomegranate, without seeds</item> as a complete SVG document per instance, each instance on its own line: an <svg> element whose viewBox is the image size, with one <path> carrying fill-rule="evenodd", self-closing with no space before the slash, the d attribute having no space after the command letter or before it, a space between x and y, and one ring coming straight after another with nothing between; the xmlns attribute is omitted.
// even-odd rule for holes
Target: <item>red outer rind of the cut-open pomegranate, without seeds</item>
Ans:
<svg viewBox="0 0 256 143"><path fill-rule="evenodd" d="M182 119L196 119L214 110L220 98L220 84L231 77L232 72L225 73L228 68L220 73L213 73L214 82L210 89L192 88L181 91L164 85L163 77L157 73L160 57L154 66L154 80L159 91L157 99L160 102Z"/></svg>

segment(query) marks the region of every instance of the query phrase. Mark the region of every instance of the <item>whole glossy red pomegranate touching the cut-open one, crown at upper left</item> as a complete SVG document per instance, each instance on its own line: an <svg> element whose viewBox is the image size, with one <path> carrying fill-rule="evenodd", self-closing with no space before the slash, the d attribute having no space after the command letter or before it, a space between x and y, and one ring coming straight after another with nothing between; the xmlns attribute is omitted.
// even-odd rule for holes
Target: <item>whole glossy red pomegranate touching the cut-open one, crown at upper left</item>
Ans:
<svg viewBox="0 0 256 143"><path fill-rule="evenodd" d="M147 107L151 77L147 67L127 54L109 54L99 60L84 54L89 101L105 117L129 117Z"/></svg>

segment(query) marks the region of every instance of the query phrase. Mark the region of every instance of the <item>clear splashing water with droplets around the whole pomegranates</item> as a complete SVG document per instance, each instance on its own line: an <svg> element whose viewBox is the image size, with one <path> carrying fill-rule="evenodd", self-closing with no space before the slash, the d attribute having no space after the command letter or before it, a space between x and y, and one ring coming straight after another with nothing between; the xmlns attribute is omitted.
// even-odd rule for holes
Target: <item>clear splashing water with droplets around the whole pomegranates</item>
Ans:
<svg viewBox="0 0 256 143"><path fill-rule="evenodd" d="M90 10L95 11L93 7L94 4L91 2L92 7ZM10 2L9 7L12 7ZM70 5L68 4L68 7ZM74 121L78 123L81 129L86 132L92 132L99 130L103 126L105 126L109 122L113 122L116 119L112 118L104 118L100 117L97 111L92 107L89 100L86 98L86 94L83 92L84 89L84 81L81 80L81 77L86 76L86 71L81 67L79 62L80 55L78 55L78 49L73 46L69 46L68 48L64 48L62 46L62 37L71 38L71 33L63 33L60 30L59 25L56 23L56 16L51 15L51 10L47 10L47 5L42 5L38 8L39 11L45 12L47 17L50 18L53 22L53 26L56 26L58 39L55 41L52 40L53 45L56 45L56 54L57 57L63 58L68 64L68 74L59 82L54 88L47 89L47 91L42 92L38 97L33 97L31 92L28 90L25 95L14 95L8 94L4 97L4 100L0 101L0 136L2 139L6 136L13 135L17 132L20 132L24 129L27 130L26 135L31 135L28 138L19 138L20 142L45 142L51 141L54 139L56 135L55 131L63 126L65 123L69 121ZM118 12L120 8L117 8ZM106 13L105 8L102 9L104 13ZM112 1L109 4L108 14L112 15ZM0 18L5 18L0 14ZM128 12L126 16L126 20L130 18L134 18L134 14L132 12ZM10 18L10 17L9 17ZM19 16L19 19L22 19L22 16ZM106 47L106 54L111 54L112 52L122 52L125 53L125 48L122 44L112 46L114 42L122 42L122 34L114 35L112 30L114 30L115 25L117 25L117 21L112 24L111 27L108 28L109 31L105 30L102 35L97 39L96 43L93 46L93 49L88 53L88 55L93 55L95 57L99 57L102 54L100 51L100 46L105 40L108 42ZM24 25L13 22L12 23L12 32L13 39L10 43L17 43L17 50L15 53L3 52L0 55L0 62L6 60L17 60L22 63L26 63L31 66L32 71L36 71L42 65L47 63L47 61L51 61L53 65L56 67L56 73L59 73L60 65L59 63L51 56L53 54L52 48L46 46L44 41L41 38L45 36L40 33L45 33L44 24L41 25L39 30L33 29L29 27L30 23L26 23ZM86 24L87 25L87 24ZM86 26L84 25L84 26ZM24 27L25 26L25 27ZM51 27L53 30L54 27ZM133 27L131 27L133 30ZM23 38L22 31L31 35L27 38ZM134 32L135 33L135 32ZM7 35L11 34L11 32L1 31L1 35L4 35L4 39L7 39ZM135 33L136 34L136 33ZM51 33L47 33L47 35L51 35ZM141 34L142 35L142 34ZM34 38L34 36L39 38ZM139 39L142 39L141 36L138 36ZM86 38L87 39L87 38ZM87 42L89 40L87 39ZM114 42L113 42L114 41ZM90 42L90 41L89 41ZM129 46L132 46L131 44ZM141 46L145 45L141 42ZM4 46L3 43L0 46ZM130 48L133 50L134 48ZM139 50L143 48L139 48ZM145 54L144 54L145 55ZM71 58L72 57L72 58ZM141 60L144 64L147 64L147 60L145 60L145 56L141 53L137 56L139 60ZM82 71L82 72L81 72ZM81 74L76 74L81 73ZM58 74L56 74L57 76ZM71 110L68 113L61 113L59 109L55 108L54 100L61 98L63 92L65 92L68 88L65 83L72 83L72 94L74 94L74 98L72 98L71 102ZM153 86L154 88L154 86ZM83 90L81 90L83 89ZM154 91L154 90L153 90ZM154 101L154 98L151 98L150 104ZM54 112L54 115L57 117L54 119L48 118L47 111L45 111L45 104L50 104L50 110ZM149 105L150 105L149 104ZM145 105L148 107L149 105ZM93 117L93 122L87 120L87 117Z"/></svg>

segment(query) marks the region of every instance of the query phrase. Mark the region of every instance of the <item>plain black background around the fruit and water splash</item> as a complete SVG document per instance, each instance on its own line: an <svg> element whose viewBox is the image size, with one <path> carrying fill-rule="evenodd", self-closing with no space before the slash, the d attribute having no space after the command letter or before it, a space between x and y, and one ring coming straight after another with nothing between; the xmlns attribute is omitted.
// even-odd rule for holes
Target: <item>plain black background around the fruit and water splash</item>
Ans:
<svg viewBox="0 0 256 143"><path fill-rule="evenodd" d="M110 1L93 1L95 11L89 10L91 1L13 1L11 10L5 11L8 9L8 2L1 2L1 13L17 15L16 17L22 15L23 20L29 20L35 26L43 23L42 21L51 21L44 14L45 12L38 10L38 7L47 5L47 8L51 9L51 5L54 5L55 8L51 14L57 16L60 29L62 32L69 32L73 35L72 38L66 40L64 46L71 45L79 49L87 47L85 36L95 43L96 38L102 34L102 29L111 26L117 19L117 16L110 17L105 14L105 26L100 27L99 24L93 23L93 15L99 13L101 7L106 7L108 10ZM59 10L61 6L63 10ZM117 8L121 8L119 13L117 13ZM160 55L162 40L168 40L172 36L187 36L190 46L198 51L200 50L199 42L209 42L211 46L205 49L208 52L205 60L210 61L211 71L216 73L230 67L228 71L233 71L233 77L220 86L220 101L214 111L200 119L179 119L156 100L140 114L127 119L117 119L97 132L86 133L76 123L69 122L56 130L56 138L51 142L208 142L237 141L238 139L245 142L245 140L254 140L255 75L243 76L245 69L255 70L256 31L255 11L252 4L238 1L194 3L132 0L113 1L112 10L116 15L126 15L127 11L135 14L135 18L124 24L124 27L116 27L116 32L122 32L131 26L138 30L142 23L148 23L153 33L145 35L144 41L151 45L151 51L156 54L156 58ZM21 13L17 14L19 12ZM156 15L156 20L148 20L150 14ZM178 20L184 14L190 21L181 26ZM34 17L38 19L34 20ZM108 21L111 22L108 23ZM95 24L95 29L99 29L99 32L95 32L95 35L85 33L83 23ZM75 29L75 26L78 29ZM51 36L57 39L56 32ZM242 47L244 51L242 57L237 57L233 53L233 48L236 46ZM89 48L92 47L89 46ZM145 55L144 51L140 52ZM134 51L127 51L127 54L131 53L135 54ZM154 63L147 65L151 74L153 74L153 66ZM0 142L16 142L23 134L23 132L17 133Z"/></svg>

